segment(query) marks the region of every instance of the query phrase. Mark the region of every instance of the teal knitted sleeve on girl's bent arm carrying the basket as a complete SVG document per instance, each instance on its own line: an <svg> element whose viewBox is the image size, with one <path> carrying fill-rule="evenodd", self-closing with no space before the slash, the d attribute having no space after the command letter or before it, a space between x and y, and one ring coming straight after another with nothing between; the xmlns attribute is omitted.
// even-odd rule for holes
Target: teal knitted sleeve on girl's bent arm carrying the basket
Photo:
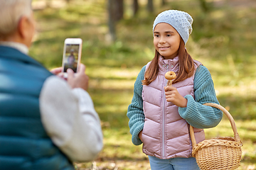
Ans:
<svg viewBox="0 0 256 170"><path fill-rule="evenodd" d="M199 66L194 78L195 99L191 95L186 95L188 100L186 108L178 108L181 118L185 119L195 128L213 128L223 117L222 111L210 106L204 106L203 103L217 103L213 79L210 72L204 66Z"/></svg>

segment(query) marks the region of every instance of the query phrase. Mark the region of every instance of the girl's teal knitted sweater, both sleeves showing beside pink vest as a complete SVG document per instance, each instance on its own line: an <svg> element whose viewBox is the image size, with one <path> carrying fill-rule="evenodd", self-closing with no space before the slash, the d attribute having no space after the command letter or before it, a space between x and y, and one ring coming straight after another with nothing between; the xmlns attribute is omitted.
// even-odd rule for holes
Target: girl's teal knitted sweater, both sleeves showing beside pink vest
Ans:
<svg viewBox="0 0 256 170"><path fill-rule="evenodd" d="M141 145L142 141L139 139L139 132L144 127L144 112L142 100L142 80L144 79L146 66L139 72L139 75L134 84L134 96L132 103L128 107L127 117L129 118L129 128L132 134L132 143L134 145ZM194 95L186 95L188 100L186 108L178 108L178 113L181 118L185 119L188 124L195 128L213 128L223 117L223 113L217 108L210 106L203 106L203 103L217 103L218 99L215 94L213 79L210 72L203 65L196 69L194 78Z"/></svg>

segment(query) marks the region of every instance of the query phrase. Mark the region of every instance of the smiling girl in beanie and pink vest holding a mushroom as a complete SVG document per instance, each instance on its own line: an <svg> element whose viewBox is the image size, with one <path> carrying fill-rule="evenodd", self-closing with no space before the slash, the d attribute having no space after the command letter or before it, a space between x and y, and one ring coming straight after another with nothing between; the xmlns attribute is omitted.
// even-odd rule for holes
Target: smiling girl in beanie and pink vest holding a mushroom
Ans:
<svg viewBox="0 0 256 170"><path fill-rule="evenodd" d="M151 170L196 170L191 157L189 125L196 142L205 139L203 128L213 128L222 119L217 108L203 103L218 103L210 72L193 60L185 45L192 32L193 19L183 11L160 13L153 25L154 59L146 64L134 84L128 107L129 128L134 145L143 143ZM166 86L166 72L177 77Z"/></svg>

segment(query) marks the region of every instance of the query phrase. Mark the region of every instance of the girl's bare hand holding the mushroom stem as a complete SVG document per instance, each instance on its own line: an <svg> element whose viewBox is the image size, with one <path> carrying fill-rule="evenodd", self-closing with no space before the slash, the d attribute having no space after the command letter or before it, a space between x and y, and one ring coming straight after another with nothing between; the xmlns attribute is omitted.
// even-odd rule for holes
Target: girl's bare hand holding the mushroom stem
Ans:
<svg viewBox="0 0 256 170"><path fill-rule="evenodd" d="M164 91L166 94L166 101L172 102L178 107L186 108L188 100L183 98L174 86L166 86L164 87Z"/></svg>

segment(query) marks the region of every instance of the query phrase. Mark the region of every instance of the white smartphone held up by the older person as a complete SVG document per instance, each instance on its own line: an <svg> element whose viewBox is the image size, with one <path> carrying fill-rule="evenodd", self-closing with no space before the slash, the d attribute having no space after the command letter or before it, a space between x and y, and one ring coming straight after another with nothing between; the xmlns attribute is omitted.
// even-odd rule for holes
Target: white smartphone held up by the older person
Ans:
<svg viewBox="0 0 256 170"><path fill-rule="evenodd" d="M67 78L67 69L73 69L78 72L78 65L80 64L82 55L82 39L81 38L66 38L63 50L63 74Z"/></svg>

